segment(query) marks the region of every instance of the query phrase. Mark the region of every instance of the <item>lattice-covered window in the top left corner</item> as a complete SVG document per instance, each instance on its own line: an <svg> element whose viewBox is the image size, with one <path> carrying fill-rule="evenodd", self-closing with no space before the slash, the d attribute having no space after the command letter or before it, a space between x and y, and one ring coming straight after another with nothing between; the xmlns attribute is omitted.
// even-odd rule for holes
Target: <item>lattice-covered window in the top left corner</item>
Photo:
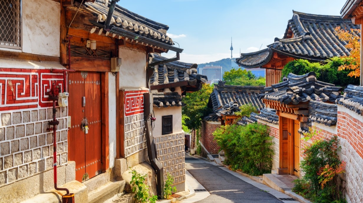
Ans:
<svg viewBox="0 0 363 203"><path fill-rule="evenodd" d="M21 0L0 0L0 47L21 49Z"/></svg>

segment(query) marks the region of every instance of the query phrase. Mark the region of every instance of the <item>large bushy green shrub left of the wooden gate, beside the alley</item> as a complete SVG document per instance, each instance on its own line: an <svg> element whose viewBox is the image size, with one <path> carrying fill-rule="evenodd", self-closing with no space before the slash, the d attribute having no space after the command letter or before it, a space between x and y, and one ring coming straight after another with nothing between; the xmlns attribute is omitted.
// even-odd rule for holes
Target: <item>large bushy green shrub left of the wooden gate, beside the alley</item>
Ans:
<svg viewBox="0 0 363 203"><path fill-rule="evenodd" d="M249 175L271 173L274 153L268 126L259 123L221 126L213 136L232 170Z"/></svg>

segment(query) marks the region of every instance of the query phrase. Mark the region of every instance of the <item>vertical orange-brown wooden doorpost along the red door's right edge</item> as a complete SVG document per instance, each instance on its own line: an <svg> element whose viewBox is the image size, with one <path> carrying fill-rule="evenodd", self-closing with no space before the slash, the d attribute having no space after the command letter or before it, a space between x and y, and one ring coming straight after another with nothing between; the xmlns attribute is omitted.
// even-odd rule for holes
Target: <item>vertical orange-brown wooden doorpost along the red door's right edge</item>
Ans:
<svg viewBox="0 0 363 203"><path fill-rule="evenodd" d="M109 169L109 73L101 74L102 171Z"/></svg>

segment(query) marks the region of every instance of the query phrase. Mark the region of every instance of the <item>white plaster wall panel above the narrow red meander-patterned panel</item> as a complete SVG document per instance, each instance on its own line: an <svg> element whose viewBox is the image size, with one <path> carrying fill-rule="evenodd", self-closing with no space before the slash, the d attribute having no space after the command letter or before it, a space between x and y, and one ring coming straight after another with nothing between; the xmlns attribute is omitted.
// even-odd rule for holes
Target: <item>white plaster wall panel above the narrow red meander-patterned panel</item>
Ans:
<svg viewBox="0 0 363 203"><path fill-rule="evenodd" d="M120 47L120 90L137 90L146 87L146 53L137 49Z"/></svg>

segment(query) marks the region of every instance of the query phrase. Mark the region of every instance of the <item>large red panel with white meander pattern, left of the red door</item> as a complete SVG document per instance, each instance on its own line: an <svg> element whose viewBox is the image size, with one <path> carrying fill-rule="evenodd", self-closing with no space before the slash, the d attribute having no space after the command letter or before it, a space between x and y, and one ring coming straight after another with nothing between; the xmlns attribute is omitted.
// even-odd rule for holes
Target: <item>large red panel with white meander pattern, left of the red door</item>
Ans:
<svg viewBox="0 0 363 203"><path fill-rule="evenodd" d="M50 84L63 86L63 75L50 70L0 68L0 111L50 107L45 92Z"/></svg>

